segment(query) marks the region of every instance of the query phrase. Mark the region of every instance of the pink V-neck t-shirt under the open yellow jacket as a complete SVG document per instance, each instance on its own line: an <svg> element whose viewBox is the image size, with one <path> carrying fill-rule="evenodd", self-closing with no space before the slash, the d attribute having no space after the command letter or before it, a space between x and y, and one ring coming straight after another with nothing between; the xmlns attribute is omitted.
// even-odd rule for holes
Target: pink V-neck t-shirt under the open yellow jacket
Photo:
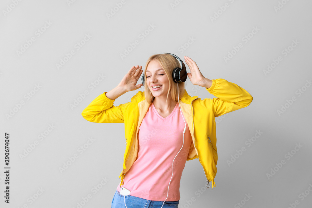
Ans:
<svg viewBox="0 0 312 208"><path fill-rule="evenodd" d="M166 118L158 114L153 103L149 106L139 127L138 156L121 186L129 189L131 196L151 201L166 199L172 162L182 147L186 123L183 148L173 162L173 176L166 201L180 200L180 180L192 143L188 123L184 123L183 118L178 102ZM120 183L117 186L120 192L119 186Z"/></svg>

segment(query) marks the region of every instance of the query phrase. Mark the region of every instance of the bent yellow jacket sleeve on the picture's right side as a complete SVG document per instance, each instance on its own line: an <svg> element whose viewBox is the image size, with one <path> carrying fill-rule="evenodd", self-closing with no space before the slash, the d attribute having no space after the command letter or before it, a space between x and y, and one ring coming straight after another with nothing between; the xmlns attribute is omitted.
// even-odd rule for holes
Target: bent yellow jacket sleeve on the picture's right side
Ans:
<svg viewBox="0 0 312 208"><path fill-rule="evenodd" d="M206 90L216 96L213 99L203 99L204 106L212 106L215 117L247 107L252 96L240 86L224 79L212 80L212 85Z"/></svg>

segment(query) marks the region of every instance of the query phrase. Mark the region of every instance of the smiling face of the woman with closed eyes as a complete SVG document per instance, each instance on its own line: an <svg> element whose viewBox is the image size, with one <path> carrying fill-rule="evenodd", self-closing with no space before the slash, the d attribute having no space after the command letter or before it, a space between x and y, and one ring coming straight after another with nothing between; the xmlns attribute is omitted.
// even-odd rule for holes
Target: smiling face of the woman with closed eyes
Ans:
<svg viewBox="0 0 312 208"><path fill-rule="evenodd" d="M162 66L156 61L152 60L146 69L146 82L149 90L154 97L164 96L167 98L167 93L169 90L169 80L163 70ZM160 85L161 87L154 89L152 86Z"/></svg>

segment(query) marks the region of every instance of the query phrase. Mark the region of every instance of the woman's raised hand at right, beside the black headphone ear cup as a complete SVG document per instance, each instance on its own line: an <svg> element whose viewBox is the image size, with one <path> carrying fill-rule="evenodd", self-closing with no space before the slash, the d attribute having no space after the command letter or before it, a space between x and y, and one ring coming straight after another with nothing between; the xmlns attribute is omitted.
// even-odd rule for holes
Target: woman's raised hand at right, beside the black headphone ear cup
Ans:
<svg viewBox="0 0 312 208"><path fill-rule="evenodd" d="M185 63L190 68L191 73L188 72L188 78L193 85L204 86L206 84L206 78L200 72L197 64L190 57L184 56Z"/></svg>

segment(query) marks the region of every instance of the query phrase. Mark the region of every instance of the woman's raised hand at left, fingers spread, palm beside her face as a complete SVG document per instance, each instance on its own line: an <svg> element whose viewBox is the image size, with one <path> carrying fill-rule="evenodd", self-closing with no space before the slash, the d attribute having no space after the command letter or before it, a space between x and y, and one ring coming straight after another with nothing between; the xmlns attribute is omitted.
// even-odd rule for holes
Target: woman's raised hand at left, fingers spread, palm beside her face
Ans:
<svg viewBox="0 0 312 208"><path fill-rule="evenodd" d="M132 66L128 73L124 75L124 78L121 80L118 86L122 87L127 92L139 89L143 86L143 84L136 85L136 83L141 77L142 72L142 66Z"/></svg>

